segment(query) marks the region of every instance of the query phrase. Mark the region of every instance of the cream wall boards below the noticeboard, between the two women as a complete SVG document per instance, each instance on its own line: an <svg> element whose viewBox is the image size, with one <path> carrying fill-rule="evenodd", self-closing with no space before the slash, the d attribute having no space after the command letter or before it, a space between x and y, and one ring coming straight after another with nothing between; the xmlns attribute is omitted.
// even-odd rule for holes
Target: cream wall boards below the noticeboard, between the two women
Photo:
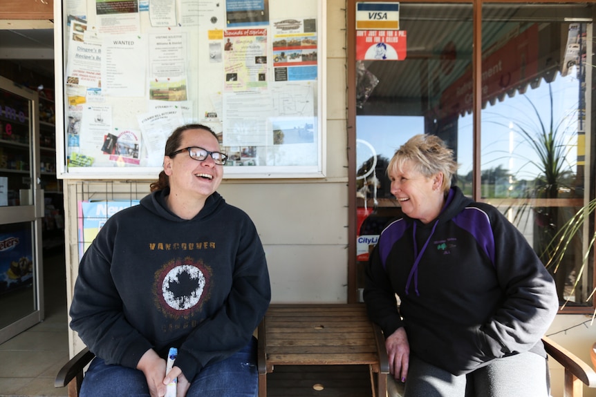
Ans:
<svg viewBox="0 0 596 397"><path fill-rule="evenodd" d="M272 302L347 301L345 183L224 182L219 192L257 226Z"/></svg>

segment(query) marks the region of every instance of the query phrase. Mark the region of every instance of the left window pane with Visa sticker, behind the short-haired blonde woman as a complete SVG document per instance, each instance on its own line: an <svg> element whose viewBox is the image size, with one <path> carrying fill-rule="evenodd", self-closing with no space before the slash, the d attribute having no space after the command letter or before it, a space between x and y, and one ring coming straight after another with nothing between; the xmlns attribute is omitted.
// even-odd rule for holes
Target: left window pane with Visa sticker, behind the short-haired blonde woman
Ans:
<svg viewBox="0 0 596 397"><path fill-rule="evenodd" d="M357 300L362 300L369 252L389 221L401 215L387 175L393 153L423 133L457 144L452 131L458 124L443 111L442 98L472 68L473 12L471 3L356 1L355 9L355 285ZM383 22L358 27L374 15ZM379 57L378 48L387 56ZM472 136L465 139L471 142Z"/></svg>

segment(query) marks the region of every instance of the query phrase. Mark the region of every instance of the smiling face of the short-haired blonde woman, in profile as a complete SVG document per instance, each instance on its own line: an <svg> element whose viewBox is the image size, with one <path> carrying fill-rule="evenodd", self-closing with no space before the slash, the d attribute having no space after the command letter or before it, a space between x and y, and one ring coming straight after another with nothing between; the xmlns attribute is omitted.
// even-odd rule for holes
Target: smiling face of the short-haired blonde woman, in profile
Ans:
<svg viewBox="0 0 596 397"><path fill-rule="evenodd" d="M426 177L410 161L406 161L402 169L395 166L389 170L389 180L391 194L398 199L404 214L425 224L439 215L443 208L443 191L440 188L443 174Z"/></svg>

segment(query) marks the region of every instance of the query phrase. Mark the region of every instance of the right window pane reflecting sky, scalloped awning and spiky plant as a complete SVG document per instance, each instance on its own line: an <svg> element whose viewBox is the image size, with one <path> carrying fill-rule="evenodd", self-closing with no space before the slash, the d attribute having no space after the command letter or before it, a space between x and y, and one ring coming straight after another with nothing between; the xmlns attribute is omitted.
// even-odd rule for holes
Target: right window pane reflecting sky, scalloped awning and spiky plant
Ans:
<svg viewBox="0 0 596 397"><path fill-rule="evenodd" d="M483 9L482 199L498 206L532 244L561 302L590 306L593 270L582 266L588 222L566 238L560 263L551 258L561 231L590 197L591 153L584 142L591 125L591 24L561 21L555 8L539 16L534 6Z"/></svg>

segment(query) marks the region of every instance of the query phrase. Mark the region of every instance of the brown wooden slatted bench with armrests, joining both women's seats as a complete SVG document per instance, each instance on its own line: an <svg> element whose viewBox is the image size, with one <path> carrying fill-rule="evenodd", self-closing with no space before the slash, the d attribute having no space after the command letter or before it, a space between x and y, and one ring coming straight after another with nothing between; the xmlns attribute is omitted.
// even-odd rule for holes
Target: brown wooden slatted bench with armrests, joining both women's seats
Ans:
<svg viewBox="0 0 596 397"><path fill-rule="evenodd" d="M362 304L274 304L258 333L259 397L267 396L268 389L269 397L385 396L389 365L384 339ZM564 397L581 397L584 385L596 387L590 365L554 340L542 340L565 369ZM55 387L68 385L68 396L76 397L93 357L85 348L71 358L57 374ZM596 366L596 344L592 358Z"/></svg>

